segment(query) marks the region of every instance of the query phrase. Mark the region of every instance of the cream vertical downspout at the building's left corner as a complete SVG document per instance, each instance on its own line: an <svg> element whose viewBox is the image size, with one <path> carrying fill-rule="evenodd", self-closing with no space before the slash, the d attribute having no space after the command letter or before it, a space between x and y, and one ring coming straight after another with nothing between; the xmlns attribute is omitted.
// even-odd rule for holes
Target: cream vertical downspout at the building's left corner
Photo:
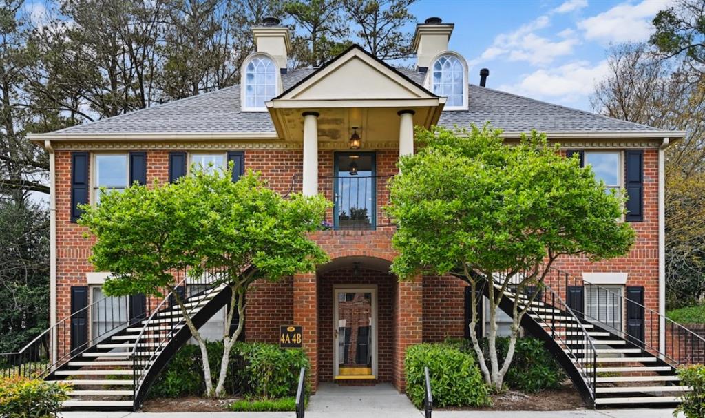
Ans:
<svg viewBox="0 0 705 418"><path fill-rule="evenodd" d="M49 152L49 326L51 331L51 363L59 357L59 336L56 333L56 155L51 141L44 141Z"/></svg>

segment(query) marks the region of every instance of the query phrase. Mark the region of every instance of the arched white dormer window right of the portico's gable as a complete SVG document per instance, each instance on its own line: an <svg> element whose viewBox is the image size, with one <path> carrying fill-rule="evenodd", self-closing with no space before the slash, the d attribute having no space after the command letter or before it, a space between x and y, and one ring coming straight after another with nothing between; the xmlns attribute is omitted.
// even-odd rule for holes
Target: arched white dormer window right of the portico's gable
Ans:
<svg viewBox="0 0 705 418"><path fill-rule="evenodd" d="M467 63L456 54L439 55L429 68L429 87L447 97L445 109L467 109Z"/></svg>

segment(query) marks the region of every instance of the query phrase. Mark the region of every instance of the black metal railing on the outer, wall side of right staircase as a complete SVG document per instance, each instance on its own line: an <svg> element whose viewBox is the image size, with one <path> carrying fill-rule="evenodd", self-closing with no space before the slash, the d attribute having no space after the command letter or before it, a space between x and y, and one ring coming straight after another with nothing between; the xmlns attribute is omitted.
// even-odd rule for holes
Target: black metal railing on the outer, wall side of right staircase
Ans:
<svg viewBox="0 0 705 418"><path fill-rule="evenodd" d="M587 321L603 326L672 367L705 362L705 339L694 331L623 293L555 270L563 276L566 289L582 289L587 296L585 299L589 303L578 312ZM637 319L630 319L628 316L634 312L637 312Z"/></svg>

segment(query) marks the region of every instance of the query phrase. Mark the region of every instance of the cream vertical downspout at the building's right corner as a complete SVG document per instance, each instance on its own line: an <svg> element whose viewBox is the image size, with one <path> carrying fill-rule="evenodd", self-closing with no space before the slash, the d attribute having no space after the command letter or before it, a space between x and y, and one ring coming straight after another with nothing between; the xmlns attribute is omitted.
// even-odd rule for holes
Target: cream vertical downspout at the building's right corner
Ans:
<svg viewBox="0 0 705 418"><path fill-rule="evenodd" d="M666 350L666 158L663 152L670 138L663 138L658 147L658 348Z"/></svg>

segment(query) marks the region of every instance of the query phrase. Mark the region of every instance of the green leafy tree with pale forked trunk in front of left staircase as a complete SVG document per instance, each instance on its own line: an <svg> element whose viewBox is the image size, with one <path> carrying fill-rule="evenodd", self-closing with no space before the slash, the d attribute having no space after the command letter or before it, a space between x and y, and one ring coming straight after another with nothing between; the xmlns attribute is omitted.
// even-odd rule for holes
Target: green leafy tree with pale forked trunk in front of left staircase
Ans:
<svg viewBox="0 0 705 418"><path fill-rule="evenodd" d="M207 395L216 397L223 395L231 348L243 330L250 285L314 271L327 258L307 237L324 219L328 204L323 197L285 199L252 172L236 183L231 178L228 170L195 170L174 184L133 185L104 195L96 207L84 207L80 219L97 238L92 263L112 273L104 285L107 295L161 295L166 289L176 296L200 346ZM188 270L200 277L207 269L222 270L213 285L225 284L232 291L215 388L206 343L175 291L173 276L173 271ZM235 311L238 326L230 333Z"/></svg>

